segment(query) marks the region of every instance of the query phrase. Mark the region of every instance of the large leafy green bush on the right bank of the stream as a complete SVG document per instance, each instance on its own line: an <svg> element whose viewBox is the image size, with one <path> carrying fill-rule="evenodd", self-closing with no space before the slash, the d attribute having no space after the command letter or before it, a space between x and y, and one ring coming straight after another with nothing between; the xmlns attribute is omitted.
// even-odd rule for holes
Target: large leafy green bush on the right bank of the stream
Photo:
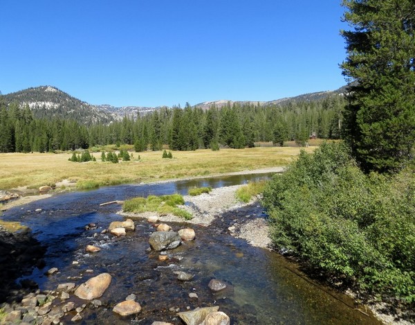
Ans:
<svg viewBox="0 0 415 325"><path fill-rule="evenodd" d="M275 175L263 202L277 249L368 292L414 303L414 168L366 175L344 143L323 143Z"/></svg>

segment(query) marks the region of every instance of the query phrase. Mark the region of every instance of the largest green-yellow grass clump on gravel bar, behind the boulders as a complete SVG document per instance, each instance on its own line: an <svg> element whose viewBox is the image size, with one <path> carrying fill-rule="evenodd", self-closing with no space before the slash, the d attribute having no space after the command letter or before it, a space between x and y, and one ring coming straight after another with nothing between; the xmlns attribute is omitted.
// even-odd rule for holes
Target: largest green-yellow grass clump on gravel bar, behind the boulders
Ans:
<svg viewBox="0 0 415 325"><path fill-rule="evenodd" d="M171 213L185 220L192 219L191 213L177 207L183 204L185 204L183 196L177 193L161 196L149 195L147 199L145 197L134 197L131 200L126 200L122 205L122 210L133 213L152 211L159 213L160 216L166 216Z"/></svg>

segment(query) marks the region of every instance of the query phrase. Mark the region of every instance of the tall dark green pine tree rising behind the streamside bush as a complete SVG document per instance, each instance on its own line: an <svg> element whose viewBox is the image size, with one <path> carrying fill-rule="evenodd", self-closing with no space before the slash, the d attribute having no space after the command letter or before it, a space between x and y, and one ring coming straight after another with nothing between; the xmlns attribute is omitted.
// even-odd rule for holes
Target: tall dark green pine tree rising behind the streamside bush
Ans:
<svg viewBox="0 0 415 325"><path fill-rule="evenodd" d="M343 74L351 81L344 135L365 170L402 168L415 143L413 0L344 0Z"/></svg>

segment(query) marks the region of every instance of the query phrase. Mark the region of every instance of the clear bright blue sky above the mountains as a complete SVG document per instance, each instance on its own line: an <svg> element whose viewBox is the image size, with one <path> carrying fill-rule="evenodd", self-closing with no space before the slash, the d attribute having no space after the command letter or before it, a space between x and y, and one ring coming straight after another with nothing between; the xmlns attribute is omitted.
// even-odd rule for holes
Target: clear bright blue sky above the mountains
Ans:
<svg viewBox="0 0 415 325"><path fill-rule="evenodd" d="M92 104L274 100L345 84L340 0L1 0L0 91Z"/></svg>

